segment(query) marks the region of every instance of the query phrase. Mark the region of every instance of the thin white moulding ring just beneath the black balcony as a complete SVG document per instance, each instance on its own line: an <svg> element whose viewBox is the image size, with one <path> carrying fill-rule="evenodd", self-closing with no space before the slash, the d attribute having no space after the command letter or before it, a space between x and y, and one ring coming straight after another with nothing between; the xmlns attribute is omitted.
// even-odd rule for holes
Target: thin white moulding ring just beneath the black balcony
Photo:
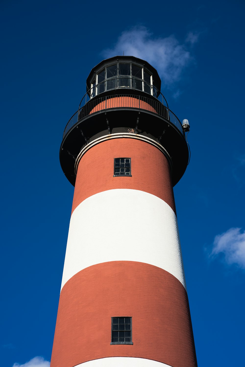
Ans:
<svg viewBox="0 0 245 367"><path fill-rule="evenodd" d="M88 143L87 145L85 145L83 147L83 149L80 151L79 155L76 158L75 161L75 174L77 174L78 171L78 164L80 162L80 159L82 158L82 156L90 149L92 148L94 145L97 145L98 143L101 143L103 141L107 141L110 139L118 139L118 138L131 138L131 139L138 139L141 141L144 141L148 144L151 144L153 146L155 146L156 148L158 148L159 150L161 150L161 152L165 155L165 157L167 158L167 160L169 161L170 164L170 168L172 170L172 160L170 158L169 153L167 153L166 149L163 148L163 146L161 144L159 144L158 142L156 142L155 140L145 137L144 135L140 135L140 134L134 134L133 132L118 132L117 134L110 134L110 135L104 135L103 137L94 139L93 141L91 141L90 143Z"/></svg>

